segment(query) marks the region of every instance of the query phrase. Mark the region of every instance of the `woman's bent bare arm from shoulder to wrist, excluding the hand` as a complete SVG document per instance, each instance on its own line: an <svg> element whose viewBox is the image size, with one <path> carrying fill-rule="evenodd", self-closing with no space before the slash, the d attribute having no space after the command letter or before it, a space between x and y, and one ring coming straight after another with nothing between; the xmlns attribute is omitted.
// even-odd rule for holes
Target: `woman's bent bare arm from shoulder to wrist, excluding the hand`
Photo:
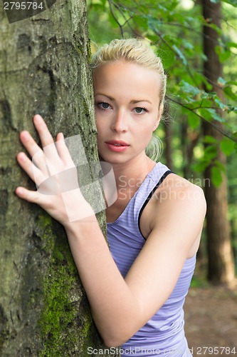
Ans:
<svg viewBox="0 0 237 357"><path fill-rule="evenodd" d="M201 236L205 213L203 191L192 184L179 188L176 196L157 199L151 233L125 279L98 223L66 227L93 318L107 346L125 343L169 298L191 247Z"/></svg>

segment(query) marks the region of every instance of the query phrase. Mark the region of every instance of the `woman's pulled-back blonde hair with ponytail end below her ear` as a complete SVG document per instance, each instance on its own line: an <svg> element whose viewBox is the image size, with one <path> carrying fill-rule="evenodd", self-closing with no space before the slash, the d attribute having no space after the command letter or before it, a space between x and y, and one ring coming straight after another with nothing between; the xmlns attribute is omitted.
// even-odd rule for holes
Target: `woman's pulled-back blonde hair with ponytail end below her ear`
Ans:
<svg viewBox="0 0 237 357"><path fill-rule="evenodd" d="M161 59L154 54L151 47L141 39L114 39L110 44L105 44L93 55L91 68L96 69L108 62L120 61L121 59L138 64L147 69L152 69L159 74L160 92L159 109L163 111L164 96L166 91L167 76ZM157 161L162 152L162 141L157 134L152 134L152 139L146 148L146 154L152 160Z"/></svg>

